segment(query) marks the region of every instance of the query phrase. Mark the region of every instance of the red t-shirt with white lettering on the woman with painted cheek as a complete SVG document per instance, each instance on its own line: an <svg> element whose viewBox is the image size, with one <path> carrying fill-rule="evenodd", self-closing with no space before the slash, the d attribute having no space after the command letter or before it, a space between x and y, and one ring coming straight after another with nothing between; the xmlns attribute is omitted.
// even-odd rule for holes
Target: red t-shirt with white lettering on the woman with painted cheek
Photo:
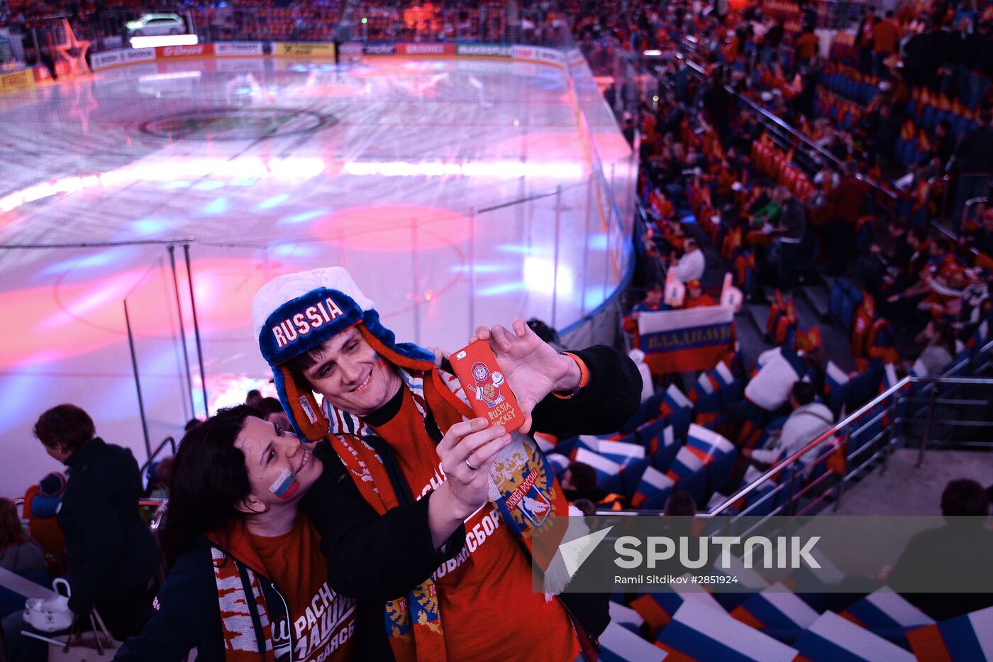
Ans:
<svg viewBox="0 0 993 662"><path fill-rule="evenodd" d="M355 600L328 585L328 562L310 518L298 515L282 536L248 534L262 563L286 599L292 623L293 659L300 662L352 660Z"/></svg>

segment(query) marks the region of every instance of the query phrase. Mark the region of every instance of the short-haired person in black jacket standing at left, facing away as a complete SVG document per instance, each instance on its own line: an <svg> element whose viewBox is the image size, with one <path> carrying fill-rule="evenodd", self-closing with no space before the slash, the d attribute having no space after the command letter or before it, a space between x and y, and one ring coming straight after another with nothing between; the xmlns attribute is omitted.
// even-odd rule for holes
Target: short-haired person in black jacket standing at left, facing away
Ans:
<svg viewBox="0 0 993 662"><path fill-rule="evenodd" d="M66 535L71 610L94 606L119 639L137 634L151 604L149 580L159 550L138 510L141 478L127 448L96 436L92 418L60 405L39 417L35 436L46 452L69 467L59 510Z"/></svg>

